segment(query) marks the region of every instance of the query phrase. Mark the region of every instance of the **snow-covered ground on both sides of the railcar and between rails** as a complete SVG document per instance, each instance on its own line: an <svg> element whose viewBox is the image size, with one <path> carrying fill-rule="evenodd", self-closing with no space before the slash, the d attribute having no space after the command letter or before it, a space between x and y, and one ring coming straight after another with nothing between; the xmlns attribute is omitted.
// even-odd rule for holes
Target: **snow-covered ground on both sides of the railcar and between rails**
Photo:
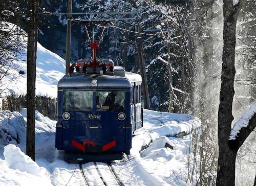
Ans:
<svg viewBox="0 0 256 186"><path fill-rule="evenodd" d="M124 185L187 185L190 136L166 137L189 133L200 120L186 114L144 110L144 127L136 131L129 159L116 160L113 168ZM26 151L26 109L0 112L0 185L80 185L79 166L63 161L55 150L55 121L36 112L36 162ZM142 146L150 146L140 151ZM164 147L169 144L169 147ZM8 145L11 144L11 145ZM106 182L115 185L106 164L97 162ZM90 185L102 184L93 162L83 165Z"/></svg>

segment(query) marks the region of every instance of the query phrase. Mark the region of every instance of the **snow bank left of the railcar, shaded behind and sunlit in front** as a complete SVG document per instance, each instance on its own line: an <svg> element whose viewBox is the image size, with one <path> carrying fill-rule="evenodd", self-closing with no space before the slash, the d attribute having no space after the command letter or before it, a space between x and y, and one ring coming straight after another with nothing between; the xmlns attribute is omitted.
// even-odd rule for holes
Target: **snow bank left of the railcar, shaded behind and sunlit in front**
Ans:
<svg viewBox="0 0 256 186"><path fill-rule="evenodd" d="M56 155L54 146L56 121L35 111L37 161L34 162L24 153L26 113L26 108L20 113L0 111L0 185L52 185L51 175L47 169L50 169L49 162L54 161Z"/></svg>

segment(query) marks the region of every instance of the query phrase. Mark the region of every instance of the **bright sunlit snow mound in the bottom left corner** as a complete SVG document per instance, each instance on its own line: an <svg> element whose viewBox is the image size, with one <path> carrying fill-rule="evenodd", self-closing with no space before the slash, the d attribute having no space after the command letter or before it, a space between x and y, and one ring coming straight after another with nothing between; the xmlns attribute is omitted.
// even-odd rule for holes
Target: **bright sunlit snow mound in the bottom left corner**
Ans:
<svg viewBox="0 0 256 186"><path fill-rule="evenodd" d="M0 159L0 185L52 185L48 171L15 145L6 146L4 156L5 160Z"/></svg>

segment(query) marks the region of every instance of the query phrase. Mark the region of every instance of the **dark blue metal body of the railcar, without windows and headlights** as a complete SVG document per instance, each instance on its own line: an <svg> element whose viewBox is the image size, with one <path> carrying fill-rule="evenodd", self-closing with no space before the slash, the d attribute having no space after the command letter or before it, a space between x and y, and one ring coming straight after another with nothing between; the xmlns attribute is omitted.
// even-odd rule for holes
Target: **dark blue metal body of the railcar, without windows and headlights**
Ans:
<svg viewBox="0 0 256 186"><path fill-rule="evenodd" d="M67 79L67 77L65 77ZM124 79L127 85L127 79ZM70 82L69 82L70 83ZM113 82L115 83L115 82ZM111 83L109 83L111 84ZM120 79L119 79L120 84ZM132 85L135 83L132 82ZM141 84L141 82L140 82ZM96 105L93 104L91 111L75 111L69 110L71 117L69 120L64 120L62 114L67 112L63 109L63 90L92 90L93 103L96 102L95 90L125 90L125 113L126 117L123 121L118 119L120 111L96 111ZM132 91L134 91L132 93ZM131 87L92 87L92 86L65 86L58 87L58 104L57 104L57 124L56 124L56 140L55 147L58 150L68 152L78 152L79 154L106 153L113 152L129 153L132 148L132 134L141 127L141 103L133 104L131 96L135 95L135 88ZM137 111L136 111L137 110ZM100 115L91 119L89 114ZM83 151L74 146L75 141L78 145L84 146ZM115 141L115 145L107 150L105 146ZM93 143L88 145L86 143ZM103 152L104 151L104 152Z"/></svg>

